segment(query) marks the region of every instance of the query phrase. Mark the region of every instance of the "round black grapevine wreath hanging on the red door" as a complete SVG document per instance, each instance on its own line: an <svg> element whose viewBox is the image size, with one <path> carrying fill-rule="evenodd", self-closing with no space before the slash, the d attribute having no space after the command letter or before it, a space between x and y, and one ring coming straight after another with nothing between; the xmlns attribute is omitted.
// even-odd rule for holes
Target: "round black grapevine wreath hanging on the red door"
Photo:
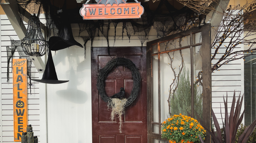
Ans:
<svg viewBox="0 0 256 143"><path fill-rule="evenodd" d="M105 102L110 102L112 99L107 96L105 91L105 78L107 77L108 73L117 66L125 66L129 68L132 71L132 77L133 77L133 88L131 95L128 97L127 102L125 103L124 107L127 107L131 105L134 100L137 98L139 93L139 87L140 87L140 74L138 69L136 68L135 64L127 58L118 57L114 58L112 60L109 60L108 63L104 68L102 68L99 72L98 79L97 79L97 89L98 93L101 97L101 99Z"/></svg>

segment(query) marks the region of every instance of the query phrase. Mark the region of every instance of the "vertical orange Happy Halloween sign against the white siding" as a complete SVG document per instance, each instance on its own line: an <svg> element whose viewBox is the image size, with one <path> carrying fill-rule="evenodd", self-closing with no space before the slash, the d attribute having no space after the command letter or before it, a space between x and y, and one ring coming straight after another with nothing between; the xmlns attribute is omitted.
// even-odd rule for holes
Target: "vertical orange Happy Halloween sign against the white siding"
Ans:
<svg viewBox="0 0 256 143"><path fill-rule="evenodd" d="M27 132L27 59L12 60L14 141Z"/></svg>

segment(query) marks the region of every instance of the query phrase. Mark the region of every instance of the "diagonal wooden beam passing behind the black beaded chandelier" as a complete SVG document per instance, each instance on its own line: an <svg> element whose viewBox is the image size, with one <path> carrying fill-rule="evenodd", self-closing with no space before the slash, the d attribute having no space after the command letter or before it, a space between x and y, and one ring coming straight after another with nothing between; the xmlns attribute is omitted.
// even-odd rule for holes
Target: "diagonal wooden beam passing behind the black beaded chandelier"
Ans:
<svg viewBox="0 0 256 143"><path fill-rule="evenodd" d="M23 22L21 22L16 1L9 0L4 4L2 3L1 6L4 9L8 19L10 20L15 32L17 33L17 36L20 40L23 39L26 35L27 29ZM45 65L41 57L30 56L30 58L33 59L32 62L36 69L45 69Z"/></svg>

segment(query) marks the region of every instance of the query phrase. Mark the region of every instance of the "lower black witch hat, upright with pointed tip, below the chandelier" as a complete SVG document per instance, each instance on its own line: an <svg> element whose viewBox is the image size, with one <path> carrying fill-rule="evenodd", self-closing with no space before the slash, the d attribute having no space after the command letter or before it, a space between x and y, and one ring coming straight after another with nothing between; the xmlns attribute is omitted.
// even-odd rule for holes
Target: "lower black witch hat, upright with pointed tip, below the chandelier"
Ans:
<svg viewBox="0 0 256 143"><path fill-rule="evenodd" d="M47 63L45 66L42 79L31 79L31 80L36 82L46 83L46 84L61 84L69 81L69 80L58 80L54 63L53 63L52 52L50 49L49 49L49 55L48 55L48 59L47 59Z"/></svg>

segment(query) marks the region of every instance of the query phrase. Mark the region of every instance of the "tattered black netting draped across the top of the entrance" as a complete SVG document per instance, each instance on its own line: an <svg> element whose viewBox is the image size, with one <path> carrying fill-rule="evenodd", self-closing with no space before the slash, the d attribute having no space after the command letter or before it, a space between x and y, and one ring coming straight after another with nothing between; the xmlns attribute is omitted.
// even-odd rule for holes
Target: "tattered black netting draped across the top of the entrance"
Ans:
<svg viewBox="0 0 256 143"><path fill-rule="evenodd" d="M75 5L77 4L75 0ZM91 0L94 4L95 1ZM199 20L200 15L184 6L181 9L174 8L168 0L161 0L156 9L152 8L152 5L157 4L149 4L149 2L141 3L144 7L144 13L141 15L141 19L120 19L120 20L82 20L81 15L79 14L79 10L81 7L77 8L67 8L67 0L63 0L62 6L56 6L56 1L54 0L17 0L19 5L19 12L21 15L21 19L23 19L24 10L29 9L31 7L34 8L34 11L37 12L37 16L40 13L45 14L46 18L46 26L48 28L47 31L53 30L53 36L57 36L58 31L60 29L61 20L68 19L71 23L79 24L79 35L81 32L87 32L88 36L82 37L85 44L88 40L91 40L91 47L93 45L93 40L95 36L99 36L98 32L101 32L104 37L107 39L108 47L109 45L109 26L111 23L114 24L115 27L115 35L116 28L118 23L122 23L122 38L124 34L130 39L131 35L137 35L141 45L148 40L149 31L153 27L157 31L157 36L159 38L177 33L180 31L184 31L187 28L191 28L193 24L201 23ZM134 2L134 1L131 1ZM54 5L55 4L55 5ZM62 9L62 12L58 11ZM191 25L191 26L189 26ZM50 33L47 33L48 38L50 37ZM116 37L114 36L114 40ZM85 45L84 44L84 45ZM85 47L85 46L84 46ZM85 47L86 48L86 47Z"/></svg>

